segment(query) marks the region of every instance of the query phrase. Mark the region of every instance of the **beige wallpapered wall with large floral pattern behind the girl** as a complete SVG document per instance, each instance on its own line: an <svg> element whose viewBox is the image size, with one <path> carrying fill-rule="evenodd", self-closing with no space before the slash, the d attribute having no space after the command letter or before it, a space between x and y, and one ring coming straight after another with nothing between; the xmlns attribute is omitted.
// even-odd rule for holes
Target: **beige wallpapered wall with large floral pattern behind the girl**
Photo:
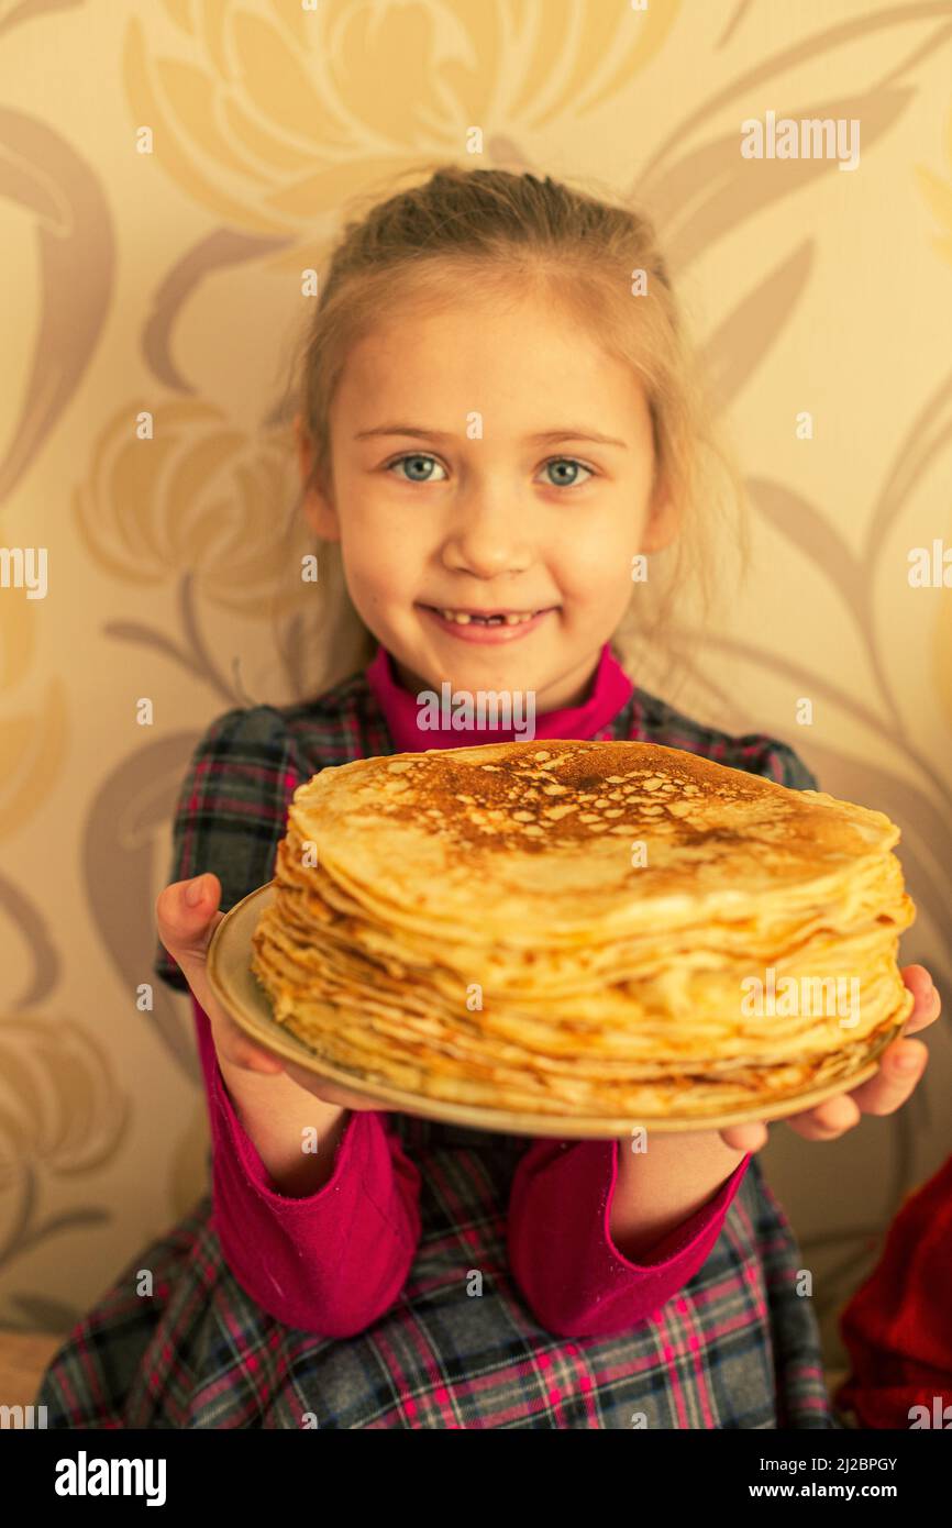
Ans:
<svg viewBox="0 0 952 1528"><path fill-rule="evenodd" d="M906 578L952 538L952 6L3 0L0 44L0 539L49 555L44 599L0 590L0 1322L64 1328L205 1181L186 999L157 984L141 1013L134 989L194 740L315 657L275 646L306 614L280 413L300 274L342 197L472 163L472 125L475 162L657 214L758 558L669 698L902 825L903 960L952 1001L952 593ZM857 119L859 167L743 159L767 110ZM833 1361L877 1229L952 1149L946 1019L929 1044L897 1117L772 1131Z"/></svg>

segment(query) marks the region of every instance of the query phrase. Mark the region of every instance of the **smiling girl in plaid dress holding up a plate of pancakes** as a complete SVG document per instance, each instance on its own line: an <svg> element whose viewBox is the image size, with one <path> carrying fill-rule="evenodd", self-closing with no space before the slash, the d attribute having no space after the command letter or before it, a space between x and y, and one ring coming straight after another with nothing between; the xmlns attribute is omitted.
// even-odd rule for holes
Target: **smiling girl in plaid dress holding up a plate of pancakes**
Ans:
<svg viewBox="0 0 952 1528"><path fill-rule="evenodd" d="M836 1426L764 1126L633 1154L385 1114L252 1045L205 972L223 912L272 876L298 784L478 741L417 727L414 697L445 680L532 691L539 738L816 785L785 743L700 726L613 652L649 587L633 559L709 562L708 420L649 225L497 170L394 194L333 255L295 425L303 504L339 542L373 660L306 703L229 711L193 755L156 972L193 993L211 1195L70 1334L38 1395L49 1426ZM938 999L909 978L915 1028ZM897 1108L924 1059L895 1042L795 1128L830 1140Z"/></svg>

